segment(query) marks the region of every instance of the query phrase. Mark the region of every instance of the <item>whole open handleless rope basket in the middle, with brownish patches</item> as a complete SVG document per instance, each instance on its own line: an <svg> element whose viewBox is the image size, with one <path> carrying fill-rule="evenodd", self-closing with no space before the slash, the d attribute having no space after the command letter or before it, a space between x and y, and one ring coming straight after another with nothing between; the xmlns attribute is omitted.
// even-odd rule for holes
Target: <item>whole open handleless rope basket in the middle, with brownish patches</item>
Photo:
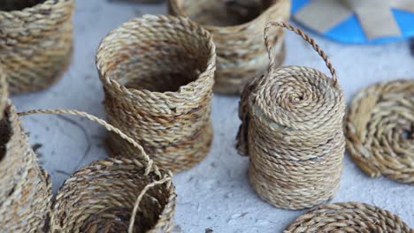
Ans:
<svg viewBox="0 0 414 233"><path fill-rule="evenodd" d="M96 65L108 121L138 141L157 165L180 171L211 147L215 65L211 35L184 18L144 16L103 39ZM135 148L114 135L112 156Z"/></svg>

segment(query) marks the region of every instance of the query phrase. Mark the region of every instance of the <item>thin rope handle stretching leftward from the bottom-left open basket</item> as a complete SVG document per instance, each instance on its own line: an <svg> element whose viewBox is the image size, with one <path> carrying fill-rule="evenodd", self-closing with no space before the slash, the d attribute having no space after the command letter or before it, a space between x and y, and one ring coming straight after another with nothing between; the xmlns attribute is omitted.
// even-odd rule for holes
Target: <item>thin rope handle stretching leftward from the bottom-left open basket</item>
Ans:
<svg viewBox="0 0 414 233"><path fill-rule="evenodd" d="M69 109L33 109L24 112L19 112L18 116L27 116L32 114L70 114L74 116L82 116L88 118L90 121L101 124L107 131L114 132L119 135L122 139L125 139L127 142L131 143L135 148L137 148L143 157L143 160L147 162L147 168L145 168L145 175L149 175L151 168L153 167L153 161L149 158L148 154L145 153L143 147L139 145L134 139L127 136L124 132L121 132L115 126L105 122L103 119L96 116L92 116L86 112L78 110L69 110Z"/></svg>

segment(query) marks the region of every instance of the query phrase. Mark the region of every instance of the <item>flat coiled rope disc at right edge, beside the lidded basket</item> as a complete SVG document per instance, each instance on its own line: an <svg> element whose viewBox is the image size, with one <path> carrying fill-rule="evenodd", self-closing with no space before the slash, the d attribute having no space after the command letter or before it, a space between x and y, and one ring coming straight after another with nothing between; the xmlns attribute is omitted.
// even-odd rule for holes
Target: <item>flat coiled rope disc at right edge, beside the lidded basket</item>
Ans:
<svg viewBox="0 0 414 233"><path fill-rule="evenodd" d="M370 177L414 184L414 80L368 86L351 101L347 148Z"/></svg>

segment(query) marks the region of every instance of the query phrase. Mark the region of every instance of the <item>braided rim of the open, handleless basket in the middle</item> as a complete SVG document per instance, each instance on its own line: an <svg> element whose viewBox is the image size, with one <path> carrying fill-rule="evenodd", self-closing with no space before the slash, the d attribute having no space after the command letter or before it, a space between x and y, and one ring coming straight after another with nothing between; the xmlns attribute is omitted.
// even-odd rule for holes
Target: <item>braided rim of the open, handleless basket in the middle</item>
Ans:
<svg viewBox="0 0 414 233"><path fill-rule="evenodd" d="M148 89L136 89L136 88L128 88L123 84L120 84L118 80L112 79L107 75L107 71L103 69L103 58L101 58L99 55L101 53L101 49L103 49L103 42L108 40L109 37L113 36L114 34L117 34L119 29L122 27L126 27L129 24L136 23L136 22L148 22L148 21L161 21L169 22L171 24L177 24L179 22L186 24L187 26L191 26L193 30L197 30L200 32L200 34L203 34L205 38L208 40L208 48L210 48L210 55L209 58L206 61L206 64L204 65L204 69L202 72L198 74L196 79L188 82L186 85L180 86L177 91L166 91L166 92L158 92L158 91L149 91ZM184 18L184 17L176 17L171 15L150 15L145 14L142 17L134 18L126 21L125 23L121 24L120 26L114 28L111 30L109 34L107 34L105 37L103 37L103 40L99 43L97 52L96 52L96 68L99 72L99 79L103 82L104 86L115 86L118 87L122 92L126 94L138 94L138 95L158 95L163 98L170 98L172 96L180 96L184 95L186 88L191 88L191 86L196 86L196 84L207 81L208 79L211 79L211 82L214 82L214 79L210 78L210 76L214 75L214 72L216 71L216 46L213 42L212 36L209 31L203 28L203 26L200 26L196 22L192 21L191 19Z"/></svg>

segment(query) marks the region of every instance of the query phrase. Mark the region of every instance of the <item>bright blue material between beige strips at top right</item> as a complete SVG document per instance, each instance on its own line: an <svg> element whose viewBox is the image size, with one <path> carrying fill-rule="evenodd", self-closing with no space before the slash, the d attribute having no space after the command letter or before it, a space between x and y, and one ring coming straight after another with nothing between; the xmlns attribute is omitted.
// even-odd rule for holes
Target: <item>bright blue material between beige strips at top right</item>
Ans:
<svg viewBox="0 0 414 233"><path fill-rule="evenodd" d="M303 5L308 4L311 0L293 0L292 15ZM326 38L343 43L371 43L379 44L392 41L402 41L414 36L414 13L400 10L392 10L397 24L400 26L402 36L384 37L374 40L368 40L365 37L364 30L360 26L357 15L352 15L349 19L344 20L338 26L323 34Z"/></svg>

